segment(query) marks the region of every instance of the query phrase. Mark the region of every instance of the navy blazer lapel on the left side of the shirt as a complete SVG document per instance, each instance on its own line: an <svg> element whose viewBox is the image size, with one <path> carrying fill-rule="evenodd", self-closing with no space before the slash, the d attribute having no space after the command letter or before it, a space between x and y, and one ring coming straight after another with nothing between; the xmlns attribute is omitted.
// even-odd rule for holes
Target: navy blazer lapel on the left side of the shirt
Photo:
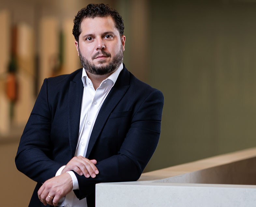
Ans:
<svg viewBox="0 0 256 207"><path fill-rule="evenodd" d="M74 157L76 152L79 133L80 112L83 96L83 83L81 81L81 74L82 73L79 72L73 81L70 81L68 90L68 137L72 157Z"/></svg>

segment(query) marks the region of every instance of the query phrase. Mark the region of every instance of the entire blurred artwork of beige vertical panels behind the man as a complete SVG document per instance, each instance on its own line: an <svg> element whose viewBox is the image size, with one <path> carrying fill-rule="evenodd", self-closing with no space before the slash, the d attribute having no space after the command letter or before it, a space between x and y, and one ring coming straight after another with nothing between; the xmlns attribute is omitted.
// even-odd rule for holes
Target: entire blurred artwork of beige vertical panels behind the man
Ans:
<svg viewBox="0 0 256 207"><path fill-rule="evenodd" d="M11 17L0 11L0 138L21 133L44 78L81 67L73 19L41 17L33 28L26 22L12 25Z"/></svg>

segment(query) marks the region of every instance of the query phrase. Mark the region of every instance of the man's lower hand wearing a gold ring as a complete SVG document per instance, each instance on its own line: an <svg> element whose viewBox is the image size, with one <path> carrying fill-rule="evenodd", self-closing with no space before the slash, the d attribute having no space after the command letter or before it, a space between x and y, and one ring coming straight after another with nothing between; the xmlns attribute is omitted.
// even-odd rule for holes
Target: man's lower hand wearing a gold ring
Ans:
<svg viewBox="0 0 256 207"><path fill-rule="evenodd" d="M71 176L68 173L64 173L45 181L37 191L37 195L45 206L47 204L57 206L59 200L67 195L72 188Z"/></svg>

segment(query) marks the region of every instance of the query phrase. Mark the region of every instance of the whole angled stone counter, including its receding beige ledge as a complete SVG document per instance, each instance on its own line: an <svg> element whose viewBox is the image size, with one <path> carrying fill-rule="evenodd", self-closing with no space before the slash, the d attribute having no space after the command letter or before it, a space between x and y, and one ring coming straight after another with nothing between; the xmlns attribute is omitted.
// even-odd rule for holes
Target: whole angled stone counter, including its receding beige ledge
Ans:
<svg viewBox="0 0 256 207"><path fill-rule="evenodd" d="M256 206L256 148L96 185L96 207Z"/></svg>

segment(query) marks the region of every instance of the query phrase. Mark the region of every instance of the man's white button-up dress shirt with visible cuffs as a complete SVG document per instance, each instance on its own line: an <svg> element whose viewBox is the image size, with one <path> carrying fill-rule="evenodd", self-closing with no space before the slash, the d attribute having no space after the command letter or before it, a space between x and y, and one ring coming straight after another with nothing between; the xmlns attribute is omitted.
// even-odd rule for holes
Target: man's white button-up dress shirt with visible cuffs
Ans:
<svg viewBox="0 0 256 207"><path fill-rule="evenodd" d="M84 86L83 98L81 105L81 114L80 114L80 125L79 125L79 136L77 142L77 148L75 156L85 157L89 139L92 133L92 129L95 123L95 120L98 116L100 108L105 101L107 94L114 86L121 70L123 69L123 64L121 64L118 69L112 73L107 79L103 80L96 90L94 90L92 81L87 76L85 69L82 71L82 82ZM76 106L74 106L76 107ZM65 168L65 165L62 166L56 173L55 176L61 174L62 170ZM73 190L79 189L78 180L73 171L68 171L73 181ZM97 175L96 175L97 176ZM64 207L87 207L86 198L78 200L73 190L68 193L64 198L62 198L58 206Z"/></svg>

